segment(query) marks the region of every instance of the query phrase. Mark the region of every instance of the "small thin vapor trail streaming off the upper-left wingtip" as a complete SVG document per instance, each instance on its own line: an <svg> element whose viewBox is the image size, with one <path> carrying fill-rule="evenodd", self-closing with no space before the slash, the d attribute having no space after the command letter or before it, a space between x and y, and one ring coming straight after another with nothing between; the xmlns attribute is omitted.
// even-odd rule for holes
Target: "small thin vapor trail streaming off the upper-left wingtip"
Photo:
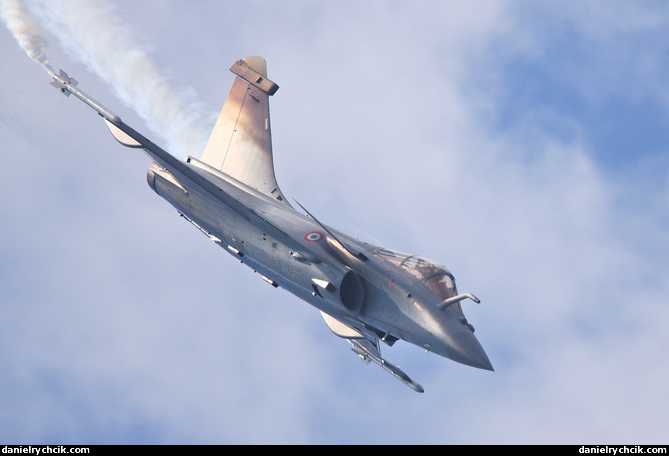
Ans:
<svg viewBox="0 0 669 456"><path fill-rule="evenodd" d="M0 16L28 57L46 68L49 74L53 74L49 59L42 50L48 46L46 38L42 36L37 25L26 16L19 0L0 0Z"/></svg>

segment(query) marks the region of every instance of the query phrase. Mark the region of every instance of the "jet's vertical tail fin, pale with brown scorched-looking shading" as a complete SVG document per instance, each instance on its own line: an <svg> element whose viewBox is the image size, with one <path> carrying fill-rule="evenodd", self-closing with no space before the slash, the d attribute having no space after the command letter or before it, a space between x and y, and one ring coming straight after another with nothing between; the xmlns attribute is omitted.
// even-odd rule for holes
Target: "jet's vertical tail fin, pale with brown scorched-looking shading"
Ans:
<svg viewBox="0 0 669 456"><path fill-rule="evenodd" d="M267 79L262 57L246 57L230 69L237 75L202 161L271 198L288 202L274 175L269 97L279 86Z"/></svg>

